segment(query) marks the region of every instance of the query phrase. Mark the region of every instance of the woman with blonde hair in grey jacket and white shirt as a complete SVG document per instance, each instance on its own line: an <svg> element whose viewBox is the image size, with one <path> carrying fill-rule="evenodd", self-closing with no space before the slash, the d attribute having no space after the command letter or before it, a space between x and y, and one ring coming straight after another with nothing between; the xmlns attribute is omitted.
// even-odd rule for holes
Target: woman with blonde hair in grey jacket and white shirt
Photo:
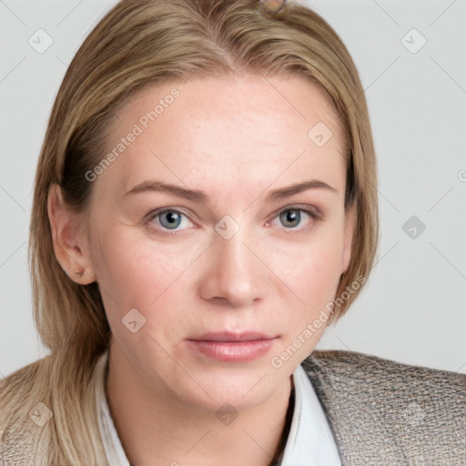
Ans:
<svg viewBox="0 0 466 466"><path fill-rule="evenodd" d="M463 464L464 376L313 351L369 277L375 179L358 72L319 15L119 3L37 167L51 354L2 382L4 464Z"/></svg>

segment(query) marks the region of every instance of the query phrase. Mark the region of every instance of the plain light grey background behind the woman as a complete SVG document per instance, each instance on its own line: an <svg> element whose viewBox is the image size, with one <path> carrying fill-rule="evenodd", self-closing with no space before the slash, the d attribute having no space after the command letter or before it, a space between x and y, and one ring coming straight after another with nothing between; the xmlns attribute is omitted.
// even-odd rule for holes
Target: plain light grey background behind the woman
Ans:
<svg viewBox="0 0 466 466"><path fill-rule="evenodd" d="M26 262L35 164L66 66L115 3L0 0L2 376L46 354ZM380 175L377 264L318 349L466 373L466 1L306 3L336 29L360 70ZM28 43L38 42L40 28L53 39L42 54ZM403 230L411 216L426 226L422 233L414 226L416 238ZM412 227L405 227L411 235Z"/></svg>

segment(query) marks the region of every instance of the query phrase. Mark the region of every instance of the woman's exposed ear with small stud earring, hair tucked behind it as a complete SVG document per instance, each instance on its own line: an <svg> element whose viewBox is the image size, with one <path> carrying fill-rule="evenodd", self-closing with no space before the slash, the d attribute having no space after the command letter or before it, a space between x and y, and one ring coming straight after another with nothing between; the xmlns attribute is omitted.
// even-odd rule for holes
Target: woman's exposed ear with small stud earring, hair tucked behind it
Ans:
<svg viewBox="0 0 466 466"><path fill-rule="evenodd" d="M82 214L66 206L61 187L56 183L48 189L47 211L54 252L61 268L80 285L96 281Z"/></svg>

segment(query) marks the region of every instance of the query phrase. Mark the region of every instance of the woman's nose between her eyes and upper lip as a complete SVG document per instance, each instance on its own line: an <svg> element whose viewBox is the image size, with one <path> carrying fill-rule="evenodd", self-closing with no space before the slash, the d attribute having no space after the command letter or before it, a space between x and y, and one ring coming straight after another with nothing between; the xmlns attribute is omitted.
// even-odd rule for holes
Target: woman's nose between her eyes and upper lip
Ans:
<svg viewBox="0 0 466 466"><path fill-rule="evenodd" d="M266 296L268 268L260 260L245 228L229 239L214 230L199 281L202 299L246 308Z"/></svg>

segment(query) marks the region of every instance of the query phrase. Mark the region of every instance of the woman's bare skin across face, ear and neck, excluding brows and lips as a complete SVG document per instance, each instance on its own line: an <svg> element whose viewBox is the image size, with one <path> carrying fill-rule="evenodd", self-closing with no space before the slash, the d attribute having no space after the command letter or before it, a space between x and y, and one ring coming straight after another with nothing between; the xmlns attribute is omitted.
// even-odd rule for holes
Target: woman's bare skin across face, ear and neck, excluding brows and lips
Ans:
<svg viewBox="0 0 466 466"><path fill-rule="evenodd" d="M327 98L300 77L202 77L129 101L109 127L106 150L174 87L173 103L93 181L85 214L67 209L51 187L56 258L76 282L96 280L101 290L114 336L107 395L131 462L267 465L283 431L291 374L326 326L281 367L270 360L335 297L349 265L354 210L344 208L341 131ZM322 147L308 137L318 122L333 133ZM147 180L208 198L127 194ZM266 200L271 190L309 180L334 190ZM290 219L286 208L294 206L319 217L300 211L300 220ZM167 214L154 214L158 208L182 214L175 230ZM228 239L215 228L226 215L239 227ZM122 322L130 309L146 319L134 333ZM274 340L248 362L214 360L187 343L220 330ZM216 417L224 403L238 414L229 425Z"/></svg>

